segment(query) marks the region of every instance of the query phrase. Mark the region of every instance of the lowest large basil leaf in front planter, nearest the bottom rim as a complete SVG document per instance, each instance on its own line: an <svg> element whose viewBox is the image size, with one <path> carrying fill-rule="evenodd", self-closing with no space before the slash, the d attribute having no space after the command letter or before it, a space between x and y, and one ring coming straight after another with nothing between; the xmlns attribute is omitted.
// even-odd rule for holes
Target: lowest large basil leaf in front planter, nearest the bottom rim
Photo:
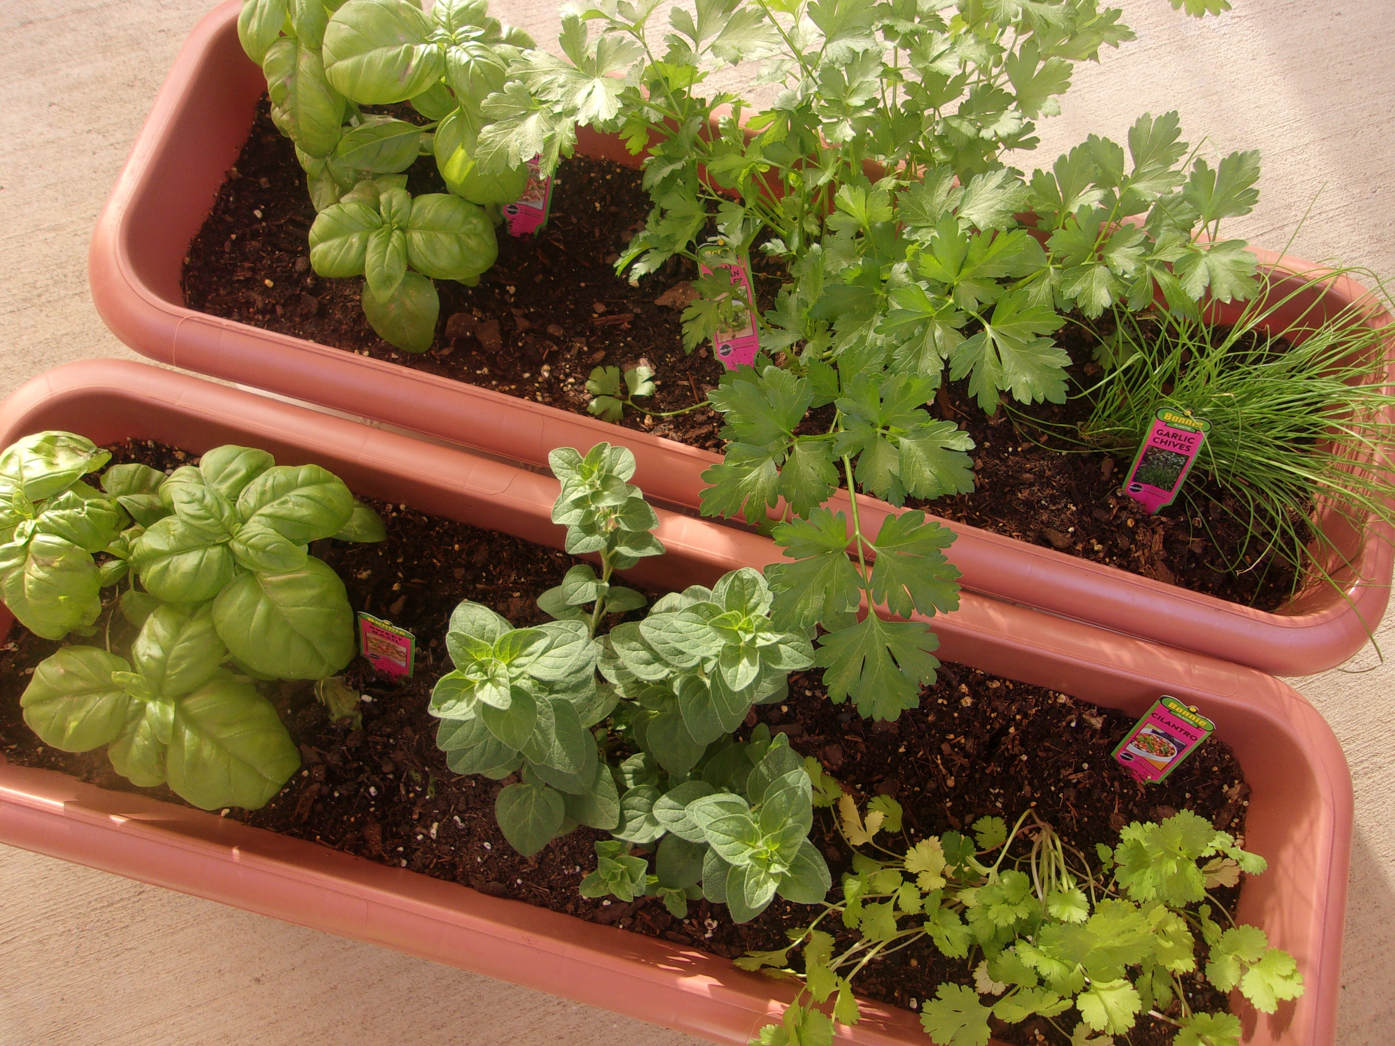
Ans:
<svg viewBox="0 0 1395 1046"><path fill-rule="evenodd" d="M194 806L255 810L299 768L276 707L248 683L218 678L176 702L166 774Z"/></svg>

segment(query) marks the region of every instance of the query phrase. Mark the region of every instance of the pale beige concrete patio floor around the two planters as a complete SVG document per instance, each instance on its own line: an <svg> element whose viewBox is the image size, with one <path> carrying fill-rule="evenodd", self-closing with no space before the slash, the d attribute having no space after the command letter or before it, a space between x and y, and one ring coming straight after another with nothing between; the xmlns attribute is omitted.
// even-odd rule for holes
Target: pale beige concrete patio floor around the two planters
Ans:
<svg viewBox="0 0 1395 1046"><path fill-rule="evenodd" d="M0 392L71 360L138 358L88 296L96 215L211 0L0 4ZM1020 166L1180 109L1209 155L1258 148L1261 202L1229 226L1269 248L1395 278L1391 0L1235 0L1204 22L1123 0L1140 39L1077 71ZM552 0L494 13L555 40ZM1311 209L1310 209L1311 208ZM1306 223L1295 232L1299 219ZM1381 647L1395 658L1395 628ZM1395 1040L1395 665L1373 651L1292 681L1356 782L1342 1046ZM0 1046L566 1042L678 1046L675 1032L367 944L0 847ZM928 1042L928 1040L926 1040Z"/></svg>

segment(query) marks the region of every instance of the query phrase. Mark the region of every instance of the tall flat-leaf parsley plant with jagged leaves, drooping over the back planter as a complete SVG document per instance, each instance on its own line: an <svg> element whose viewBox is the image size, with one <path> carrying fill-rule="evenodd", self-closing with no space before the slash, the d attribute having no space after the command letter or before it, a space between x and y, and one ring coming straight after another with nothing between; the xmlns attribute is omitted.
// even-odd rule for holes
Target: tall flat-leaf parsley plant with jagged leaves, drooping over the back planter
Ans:
<svg viewBox="0 0 1395 1046"><path fill-rule="evenodd" d="M792 562L769 572L777 626L822 626L834 700L894 718L935 678L935 636L857 618L864 602L954 609L953 534L918 512L864 529L858 492L901 506L974 490L972 441L925 410L946 365L988 411L1004 393L1062 402L1064 312L1161 298L1194 314L1202 294L1249 294L1254 257L1214 240L1253 206L1258 158L1212 169L1168 113L1141 117L1127 149L1092 135L1031 177L1004 166L1035 145L1034 120L1057 112L1076 63L1133 39L1096 0L702 0L664 28L656 11L568 8L562 56L522 56L509 106L485 102L478 162L569 153L580 126L647 151L654 208L618 271L635 282L702 259L711 272L693 285L685 346L753 318L764 350L709 393L727 449L703 474L702 510L780 519ZM748 60L770 105L703 86ZM756 248L788 273L764 315L721 268ZM591 411L618 420L651 378L598 368ZM847 512L827 508L840 487Z"/></svg>

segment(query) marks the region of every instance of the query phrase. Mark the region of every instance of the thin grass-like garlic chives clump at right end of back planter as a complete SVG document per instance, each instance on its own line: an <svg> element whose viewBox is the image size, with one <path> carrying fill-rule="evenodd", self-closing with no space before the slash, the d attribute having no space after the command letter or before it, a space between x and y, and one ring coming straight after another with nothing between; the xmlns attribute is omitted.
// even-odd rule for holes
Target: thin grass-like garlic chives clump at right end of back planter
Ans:
<svg viewBox="0 0 1395 1046"><path fill-rule="evenodd" d="M1395 396L1385 381L1391 328L1374 300L1328 314L1325 290L1339 275L1279 285L1229 328L1106 314L1095 351L1102 374L1081 391L1089 420L1070 431L1016 420L1130 456L1159 409L1190 410L1209 424L1194 471L1215 484L1182 488L1200 536L1225 548L1212 529L1229 517L1244 533L1230 570L1285 563L1296 568L1295 587L1331 577L1350 556L1338 534L1359 534L1371 520L1395 523L1395 476L1384 450L1395 441ZM1314 503L1349 526L1315 526Z"/></svg>

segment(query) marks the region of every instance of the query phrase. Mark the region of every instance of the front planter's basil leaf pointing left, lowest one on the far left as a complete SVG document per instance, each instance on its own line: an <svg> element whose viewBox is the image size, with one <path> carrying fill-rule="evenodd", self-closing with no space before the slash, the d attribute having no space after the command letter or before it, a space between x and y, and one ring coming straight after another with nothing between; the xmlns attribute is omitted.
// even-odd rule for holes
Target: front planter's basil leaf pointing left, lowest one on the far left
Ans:
<svg viewBox="0 0 1395 1046"><path fill-rule="evenodd" d="M130 671L124 658L99 647L64 647L39 662L20 697L24 721L60 752L109 745L126 725L130 704L112 672Z"/></svg>

